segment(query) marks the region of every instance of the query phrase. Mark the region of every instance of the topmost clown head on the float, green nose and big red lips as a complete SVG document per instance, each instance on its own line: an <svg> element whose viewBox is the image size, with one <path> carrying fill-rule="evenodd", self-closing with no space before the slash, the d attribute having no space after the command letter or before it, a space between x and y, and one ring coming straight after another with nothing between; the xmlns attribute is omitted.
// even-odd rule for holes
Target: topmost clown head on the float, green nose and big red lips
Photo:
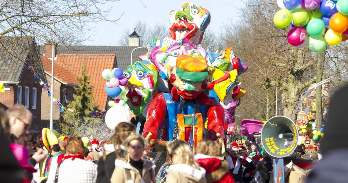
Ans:
<svg viewBox="0 0 348 183"><path fill-rule="evenodd" d="M185 3L179 11L169 13L169 33L174 41L189 39L193 45L202 42L203 34L210 23L207 9L193 3Z"/></svg>

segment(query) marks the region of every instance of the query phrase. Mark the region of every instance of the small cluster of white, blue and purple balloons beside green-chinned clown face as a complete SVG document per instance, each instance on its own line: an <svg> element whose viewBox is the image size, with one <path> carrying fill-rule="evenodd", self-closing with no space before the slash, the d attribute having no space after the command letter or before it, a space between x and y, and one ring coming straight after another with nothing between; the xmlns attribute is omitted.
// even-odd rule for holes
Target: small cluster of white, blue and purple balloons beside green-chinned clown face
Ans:
<svg viewBox="0 0 348 183"><path fill-rule="evenodd" d="M128 83L128 79L123 76L123 70L120 68L105 69L102 76L106 79L105 92L110 97L119 96L121 94L119 85L125 86Z"/></svg>

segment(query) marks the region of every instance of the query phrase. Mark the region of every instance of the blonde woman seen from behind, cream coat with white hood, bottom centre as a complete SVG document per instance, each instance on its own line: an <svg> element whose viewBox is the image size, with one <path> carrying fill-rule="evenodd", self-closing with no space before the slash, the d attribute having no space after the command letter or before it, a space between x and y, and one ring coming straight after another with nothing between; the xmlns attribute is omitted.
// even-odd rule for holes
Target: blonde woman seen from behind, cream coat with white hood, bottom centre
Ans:
<svg viewBox="0 0 348 183"><path fill-rule="evenodd" d="M189 182L205 183L205 169L193 159L190 146L183 140L176 140L168 145L169 156L173 165L169 167L167 183Z"/></svg>

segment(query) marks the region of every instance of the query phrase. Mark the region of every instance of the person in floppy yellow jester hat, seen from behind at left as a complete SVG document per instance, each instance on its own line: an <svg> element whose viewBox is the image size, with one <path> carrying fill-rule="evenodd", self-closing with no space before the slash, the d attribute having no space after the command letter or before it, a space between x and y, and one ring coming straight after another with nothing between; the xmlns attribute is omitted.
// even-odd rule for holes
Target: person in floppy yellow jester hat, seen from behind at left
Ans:
<svg viewBox="0 0 348 183"><path fill-rule="evenodd" d="M41 143L48 151L47 158L44 160L40 174L40 178L45 179L48 178L49 174L54 174L56 172L58 164L63 160L64 153L61 151L61 147L58 145L58 138L54 134L53 130L48 128L42 129ZM54 175L52 175L52 178L53 177Z"/></svg>

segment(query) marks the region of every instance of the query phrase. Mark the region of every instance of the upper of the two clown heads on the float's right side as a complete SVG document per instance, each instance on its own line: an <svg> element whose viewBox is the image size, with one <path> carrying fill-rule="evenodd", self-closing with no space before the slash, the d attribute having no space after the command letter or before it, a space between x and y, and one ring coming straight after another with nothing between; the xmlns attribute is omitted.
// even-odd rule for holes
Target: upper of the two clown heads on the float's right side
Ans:
<svg viewBox="0 0 348 183"><path fill-rule="evenodd" d="M231 71L236 69L238 75L244 73L248 67L238 59L232 51L232 47L227 47L219 53L207 52L208 65L218 68L222 71Z"/></svg>

